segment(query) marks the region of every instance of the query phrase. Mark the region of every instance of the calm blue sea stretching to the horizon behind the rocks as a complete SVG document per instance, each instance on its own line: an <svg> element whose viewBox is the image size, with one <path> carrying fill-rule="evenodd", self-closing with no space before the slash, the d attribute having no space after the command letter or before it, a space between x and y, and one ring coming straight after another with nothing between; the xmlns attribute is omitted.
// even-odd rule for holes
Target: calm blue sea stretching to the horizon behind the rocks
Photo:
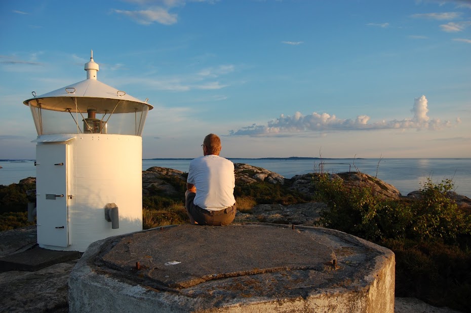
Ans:
<svg viewBox="0 0 471 313"><path fill-rule="evenodd" d="M340 173L360 171L383 180L399 189L401 194L420 189L427 179L440 183L452 179L454 191L471 198L471 158L462 159L318 159L262 158L231 159L278 173L285 178L312 172ZM145 159L142 170L160 166L188 172L191 159ZM18 183L35 177L34 160L0 160L0 185Z"/></svg>

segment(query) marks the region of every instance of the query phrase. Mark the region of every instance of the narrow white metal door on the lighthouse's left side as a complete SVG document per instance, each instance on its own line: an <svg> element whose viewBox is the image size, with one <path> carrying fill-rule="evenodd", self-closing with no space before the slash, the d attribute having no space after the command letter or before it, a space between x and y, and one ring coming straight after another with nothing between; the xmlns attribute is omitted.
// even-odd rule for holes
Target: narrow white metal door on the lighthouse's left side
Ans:
<svg viewBox="0 0 471 313"><path fill-rule="evenodd" d="M67 144L36 145L37 243L68 246Z"/></svg>

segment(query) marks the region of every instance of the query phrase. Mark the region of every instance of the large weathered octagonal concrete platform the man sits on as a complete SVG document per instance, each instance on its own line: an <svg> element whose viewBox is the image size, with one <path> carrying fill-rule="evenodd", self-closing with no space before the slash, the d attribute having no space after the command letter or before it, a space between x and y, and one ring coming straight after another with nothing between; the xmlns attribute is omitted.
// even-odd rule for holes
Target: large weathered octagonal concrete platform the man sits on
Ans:
<svg viewBox="0 0 471 313"><path fill-rule="evenodd" d="M167 226L93 243L70 312L394 312L390 250L318 227Z"/></svg>

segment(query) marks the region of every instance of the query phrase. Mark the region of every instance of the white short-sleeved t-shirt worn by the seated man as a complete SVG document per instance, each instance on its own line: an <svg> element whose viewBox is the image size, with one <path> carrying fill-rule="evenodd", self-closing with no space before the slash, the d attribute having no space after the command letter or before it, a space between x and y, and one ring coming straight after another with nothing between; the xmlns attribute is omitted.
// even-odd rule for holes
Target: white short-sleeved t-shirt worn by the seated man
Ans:
<svg viewBox="0 0 471 313"><path fill-rule="evenodd" d="M234 164L219 155L191 160L186 182L197 188L193 203L202 209L219 211L235 203Z"/></svg>

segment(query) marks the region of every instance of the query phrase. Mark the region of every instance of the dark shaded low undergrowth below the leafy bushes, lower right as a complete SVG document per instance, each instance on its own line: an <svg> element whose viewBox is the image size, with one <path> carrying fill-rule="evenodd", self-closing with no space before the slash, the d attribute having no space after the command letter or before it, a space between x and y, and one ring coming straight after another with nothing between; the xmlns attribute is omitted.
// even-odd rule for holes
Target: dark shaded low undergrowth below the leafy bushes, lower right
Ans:
<svg viewBox="0 0 471 313"><path fill-rule="evenodd" d="M441 240L388 239L382 245L396 254L396 296L469 310L471 251Z"/></svg>

